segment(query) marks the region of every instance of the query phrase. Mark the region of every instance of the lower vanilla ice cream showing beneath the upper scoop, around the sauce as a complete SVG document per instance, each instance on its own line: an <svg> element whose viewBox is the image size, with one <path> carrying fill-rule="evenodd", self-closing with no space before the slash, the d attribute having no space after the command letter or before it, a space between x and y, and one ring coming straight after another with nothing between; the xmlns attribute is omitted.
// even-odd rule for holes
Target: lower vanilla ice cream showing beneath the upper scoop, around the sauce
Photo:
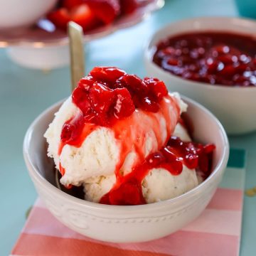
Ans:
<svg viewBox="0 0 256 256"><path fill-rule="evenodd" d="M188 131L180 123L176 124L173 135L184 142L191 141ZM87 179L83 183L85 200L99 203L100 198L110 191L115 181L114 174ZM198 186L198 183L196 170L188 169L184 164L178 176L170 174L166 169L151 169L142 181L142 193L146 203L155 203L180 196Z"/></svg>

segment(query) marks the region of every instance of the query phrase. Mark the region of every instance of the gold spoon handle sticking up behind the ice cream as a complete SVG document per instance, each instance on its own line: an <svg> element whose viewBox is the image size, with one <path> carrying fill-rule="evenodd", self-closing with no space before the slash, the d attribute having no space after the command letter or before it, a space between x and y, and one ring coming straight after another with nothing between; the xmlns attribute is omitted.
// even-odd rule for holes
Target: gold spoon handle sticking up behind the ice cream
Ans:
<svg viewBox="0 0 256 256"><path fill-rule="evenodd" d="M78 85L78 81L85 75L82 27L70 21L68 23L68 37L70 40L71 91L73 92Z"/></svg>

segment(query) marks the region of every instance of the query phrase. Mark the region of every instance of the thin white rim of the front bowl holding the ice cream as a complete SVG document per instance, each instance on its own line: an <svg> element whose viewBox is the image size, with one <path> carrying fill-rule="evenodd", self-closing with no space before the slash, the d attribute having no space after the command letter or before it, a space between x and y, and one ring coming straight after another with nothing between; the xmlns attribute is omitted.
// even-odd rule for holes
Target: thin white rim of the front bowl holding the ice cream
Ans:
<svg viewBox="0 0 256 256"><path fill-rule="evenodd" d="M28 169L28 173L30 174L31 178L36 179L38 183L41 184L46 190L48 190L51 194L56 194L58 197L64 197L65 200L70 201L70 203L76 203L82 207L91 208L94 210L114 210L114 211L129 211L129 213L134 212L136 210L153 210L154 208L160 208L162 206L165 206L169 203L178 203L181 202L184 198L190 198L194 194L196 194L201 189L205 188L210 184L210 181L217 176L217 174L220 173L223 169L226 168L226 165L228 163L228 156L229 156L229 142L228 142L228 136L225 133L225 129L223 128L223 125L220 123L220 121L209 111L206 109L206 107L203 107L203 105L199 104L198 102L191 100L188 97L185 97L181 95L182 100L185 100L188 102L188 105L194 105L195 107L200 108L203 110L203 112L206 112L210 116L211 119L218 125L220 136L223 137L223 143L224 143L224 154L220 157L218 164L215 166L215 169L211 172L210 176L206 178L205 181L203 181L201 184L196 186L195 188L192 188L190 191L187 191L186 193L183 193L180 196L177 196L175 198L168 199L166 201L160 201L156 203L149 203L145 205L138 205L138 206L112 206L112 205L104 205L100 203L93 203L90 201L85 201L80 198L76 198L75 196L70 196L68 193L65 193L64 191L60 191L57 187L53 186L49 181L46 180L41 174L38 172L38 169L35 165L33 165L33 161L31 161L31 156L28 154L28 148L30 141L32 139L31 133L33 132L34 127L36 127L36 124L42 119L42 117L48 112L53 111L56 107L58 107L61 103L63 103L64 100L60 100L59 102L55 103L54 105L51 105L46 110L44 110L28 127L28 130L25 134L25 137L23 139L23 159L26 162L26 167Z"/></svg>

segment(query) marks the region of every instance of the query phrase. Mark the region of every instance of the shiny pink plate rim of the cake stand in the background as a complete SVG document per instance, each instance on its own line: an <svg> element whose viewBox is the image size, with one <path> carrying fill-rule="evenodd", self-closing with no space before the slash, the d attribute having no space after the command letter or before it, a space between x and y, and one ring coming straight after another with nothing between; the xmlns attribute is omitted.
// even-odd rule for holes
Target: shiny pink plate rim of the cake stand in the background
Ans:
<svg viewBox="0 0 256 256"><path fill-rule="evenodd" d="M85 34L85 41L92 41L96 38L107 36L120 28L134 26L143 20L152 11L161 9L164 0L141 0L140 6L134 13L118 18L108 26L88 31ZM43 46L64 46L68 44L68 35L65 31L55 28L53 23L46 18L38 21L36 26L31 28L16 28L12 31L0 31L0 48L7 46L31 46L41 48Z"/></svg>

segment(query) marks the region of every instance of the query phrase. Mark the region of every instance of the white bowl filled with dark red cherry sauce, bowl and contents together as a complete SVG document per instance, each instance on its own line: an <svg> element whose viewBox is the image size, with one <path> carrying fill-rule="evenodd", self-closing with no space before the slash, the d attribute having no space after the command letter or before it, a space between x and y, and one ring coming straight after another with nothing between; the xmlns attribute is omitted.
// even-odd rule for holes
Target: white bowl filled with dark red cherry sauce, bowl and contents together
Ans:
<svg viewBox="0 0 256 256"><path fill-rule="evenodd" d="M157 31L147 75L208 107L228 134L256 130L256 21L193 18Z"/></svg>

